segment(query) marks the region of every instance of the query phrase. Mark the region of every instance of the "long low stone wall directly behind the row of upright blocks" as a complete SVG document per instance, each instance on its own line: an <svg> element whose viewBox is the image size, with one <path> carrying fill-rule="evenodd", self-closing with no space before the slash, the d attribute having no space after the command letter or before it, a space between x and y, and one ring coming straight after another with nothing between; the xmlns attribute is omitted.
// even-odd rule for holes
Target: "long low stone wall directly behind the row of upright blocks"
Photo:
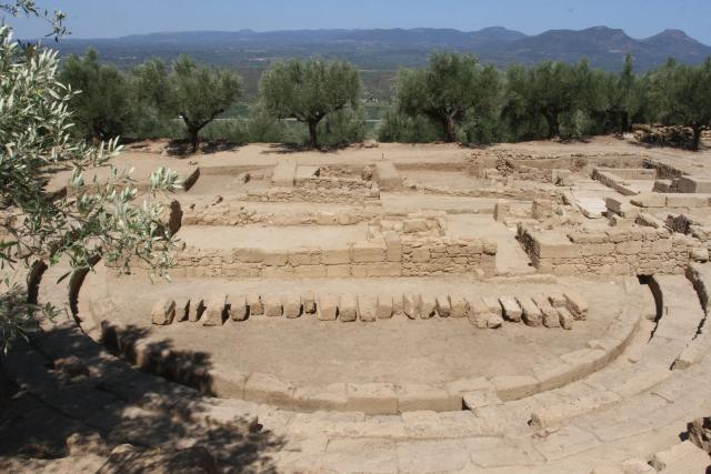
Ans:
<svg viewBox="0 0 711 474"><path fill-rule="evenodd" d="M447 273L493 275L495 242L419 239L388 234L339 249L292 251L197 249L176 252L171 276L214 278L365 278L423 276Z"/></svg>

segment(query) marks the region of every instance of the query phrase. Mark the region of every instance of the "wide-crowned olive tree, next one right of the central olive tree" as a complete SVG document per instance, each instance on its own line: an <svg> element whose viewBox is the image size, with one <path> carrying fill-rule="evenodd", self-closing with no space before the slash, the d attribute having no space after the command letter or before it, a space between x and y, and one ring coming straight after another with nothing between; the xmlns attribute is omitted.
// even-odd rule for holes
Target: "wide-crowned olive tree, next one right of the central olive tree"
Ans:
<svg viewBox="0 0 711 474"><path fill-rule="evenodd" d="M395 107L409 117L427 117L441 127L444 141L453 142L458 123L472 111L489 109L498 89L492 65L481 67L471 54L438 52L425 69L399 72Z"/></svg>

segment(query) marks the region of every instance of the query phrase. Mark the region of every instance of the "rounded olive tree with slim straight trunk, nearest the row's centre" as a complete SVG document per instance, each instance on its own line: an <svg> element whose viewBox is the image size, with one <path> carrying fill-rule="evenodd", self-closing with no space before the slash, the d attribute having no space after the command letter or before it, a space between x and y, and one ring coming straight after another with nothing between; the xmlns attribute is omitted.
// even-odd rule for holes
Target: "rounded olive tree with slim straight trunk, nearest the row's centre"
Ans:
<svg viewBox="0 0 711 474"><path fill-rule="evenodd" d="M358 70L344 61L278 62L264 72L260 95L277 119L296 119L309 128L309 143L318 148L318 125L327 115L357 109L361 93Z"/></svg>

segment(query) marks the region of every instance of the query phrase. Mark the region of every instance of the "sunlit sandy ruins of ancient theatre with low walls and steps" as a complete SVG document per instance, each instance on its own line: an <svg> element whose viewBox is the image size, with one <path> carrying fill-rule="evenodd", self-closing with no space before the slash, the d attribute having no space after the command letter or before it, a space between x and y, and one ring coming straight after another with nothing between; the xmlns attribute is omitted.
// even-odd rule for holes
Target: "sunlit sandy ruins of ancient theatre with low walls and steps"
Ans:
<svg viewBox="0 0 711 474"><path fill-rule="evenodd" d="M708 157L371 147L121 155L180 173L180 246L72 278L102 391L252 420L278 472L704 472Z"/></svg>

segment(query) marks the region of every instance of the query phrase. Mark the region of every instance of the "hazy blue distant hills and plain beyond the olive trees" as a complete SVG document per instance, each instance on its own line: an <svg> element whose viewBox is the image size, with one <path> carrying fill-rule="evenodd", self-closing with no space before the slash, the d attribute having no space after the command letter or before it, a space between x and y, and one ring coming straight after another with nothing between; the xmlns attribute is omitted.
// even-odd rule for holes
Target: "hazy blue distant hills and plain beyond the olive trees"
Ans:
<svg viewBox="0 0 711 474"><path fill-rule="evenodd" d="M152 57L172 60L187 52L199 61L238 70L246 78L248 94L256 92L261 71L274 60L342 58L361 68L367 91L374 98L390 94L398 68L425 64L432 50L471 52L502 68L512 62L531 64L544 59L574 62L588 58L593 67L612 71L621 68L627 53L634 57L638 71L654 68L670 57L699 63L711 56L711 47L683 31L667 30L639 40L607 27L550 30L537 36L502 27L470 32L430 28L162 32L116 39L68 38L57 47L62 56L81 54L93 47L104 61L123 68Z"/></svg>

